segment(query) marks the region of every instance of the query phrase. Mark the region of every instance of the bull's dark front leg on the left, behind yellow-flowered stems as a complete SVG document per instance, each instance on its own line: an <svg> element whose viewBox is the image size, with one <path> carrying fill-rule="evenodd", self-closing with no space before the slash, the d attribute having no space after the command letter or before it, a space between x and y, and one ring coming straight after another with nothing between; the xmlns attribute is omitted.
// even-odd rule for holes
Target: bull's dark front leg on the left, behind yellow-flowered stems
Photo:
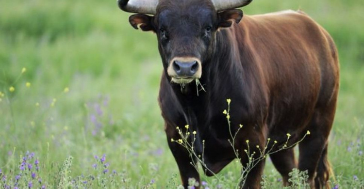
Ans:
<svg viewBox="0 0 364 189"><path fill-rule="evenodd" d="M177 129L172 128L171 126L166 126L165 132L167 135L169 149L171 150L180 170L183 187L187 189L189 178L195 178L197 182L201 183L199 178L199 172L191 163L194 162L194 164L196 165L196 159L190 157L187 149L183 147L180 143L176 142L178 141L178 139L181 139L181 136L177 132ZM199 187L196 187L195 189L199 189Z"/></svg>

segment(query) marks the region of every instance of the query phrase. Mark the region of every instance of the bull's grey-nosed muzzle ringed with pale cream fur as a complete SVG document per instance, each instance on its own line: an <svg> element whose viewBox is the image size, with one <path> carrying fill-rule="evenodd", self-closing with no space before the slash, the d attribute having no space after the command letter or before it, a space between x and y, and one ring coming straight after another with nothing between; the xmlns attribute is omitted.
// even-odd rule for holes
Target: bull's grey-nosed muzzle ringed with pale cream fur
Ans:
<svg viewBox="0 0 364 189"><path fill-rule="evenodd" d="M177 57L169 63L167 73L173 82L189 83L201 78L201 62L194 57Z"/></svg>

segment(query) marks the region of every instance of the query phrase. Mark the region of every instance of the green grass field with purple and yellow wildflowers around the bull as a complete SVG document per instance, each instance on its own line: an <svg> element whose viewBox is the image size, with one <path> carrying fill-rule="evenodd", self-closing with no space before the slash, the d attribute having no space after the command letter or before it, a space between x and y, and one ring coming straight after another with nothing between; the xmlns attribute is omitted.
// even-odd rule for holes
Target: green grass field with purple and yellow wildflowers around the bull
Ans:
<svg viewBox="0 0 364 189"><path fill-rule="evenodd" d="M332 187L363 189L364 1L255 0L243 10L298 8L331 33L339 51ZM1 187L180 184L157 103L163 68L156 37L132 29L129 15L115 0L0 0ZM225 183L238 177L236 167L220 173ZM269 159L265 175L271 188L281 188Z"/></svg>

